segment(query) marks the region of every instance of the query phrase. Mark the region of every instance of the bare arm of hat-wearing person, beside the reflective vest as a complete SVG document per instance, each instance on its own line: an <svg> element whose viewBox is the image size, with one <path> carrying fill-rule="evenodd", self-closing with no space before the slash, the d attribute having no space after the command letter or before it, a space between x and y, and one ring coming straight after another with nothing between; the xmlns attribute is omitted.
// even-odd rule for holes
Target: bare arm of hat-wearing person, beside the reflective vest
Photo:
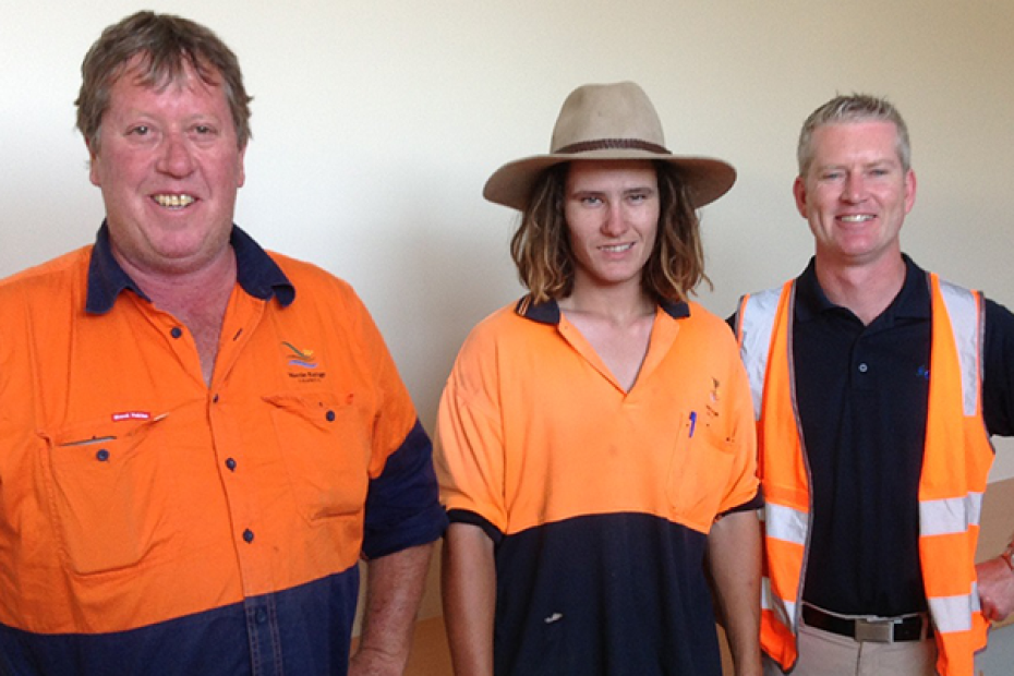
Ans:
<svg viewBox="0 0 1014 676"><path fill-rule="evenodd" d="M736 673L760 674L761 539L757 512L737 512L719 520L708 538L708 558Z"/></svg>

